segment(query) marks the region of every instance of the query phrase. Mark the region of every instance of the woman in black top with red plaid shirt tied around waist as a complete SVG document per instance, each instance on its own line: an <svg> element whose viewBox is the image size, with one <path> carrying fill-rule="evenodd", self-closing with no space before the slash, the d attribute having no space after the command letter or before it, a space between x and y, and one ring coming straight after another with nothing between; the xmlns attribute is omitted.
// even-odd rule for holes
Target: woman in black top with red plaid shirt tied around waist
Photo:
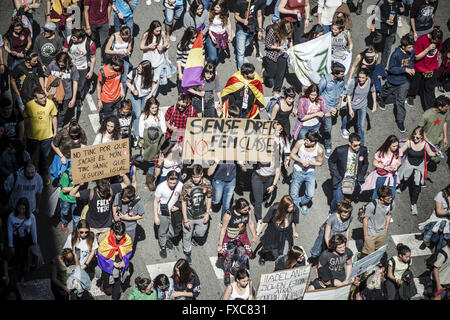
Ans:
<svg viewBox="0 0 450 320"><path fill-rule="evenodd" d="M217 252L225 258L223 281L226 286L230 284L232 270L246 268L248 258L252 256L252 245L248 239L247 225L249 225L252 233L252 243L257 244L259 239L255 231L250 204L244 198L240 198L236 200L230 210L225 212L217 246Z"/></svg>

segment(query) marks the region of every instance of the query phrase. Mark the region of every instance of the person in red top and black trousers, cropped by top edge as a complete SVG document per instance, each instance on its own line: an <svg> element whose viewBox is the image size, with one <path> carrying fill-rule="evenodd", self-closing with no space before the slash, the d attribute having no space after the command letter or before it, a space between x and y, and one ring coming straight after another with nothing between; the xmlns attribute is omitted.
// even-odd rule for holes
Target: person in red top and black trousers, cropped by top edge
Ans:
<svg viewBox="0 0 450 320"><path fill-rule="evenodd" d="M310 8L309 0L281 0L278 4L281 21L285 20L292 23L294 45L300 43L305 28L309 27Z"/></svg>

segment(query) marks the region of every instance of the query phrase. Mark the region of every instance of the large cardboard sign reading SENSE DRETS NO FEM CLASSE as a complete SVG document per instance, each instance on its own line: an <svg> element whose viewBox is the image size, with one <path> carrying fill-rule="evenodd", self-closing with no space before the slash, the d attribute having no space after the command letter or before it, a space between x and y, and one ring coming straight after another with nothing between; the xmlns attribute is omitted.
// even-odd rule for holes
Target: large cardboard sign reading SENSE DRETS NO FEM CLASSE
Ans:
<svg viewBox="0 0 450 320"><path fill-rule="evenodd" d="M267 120L188 118L183 160L271 162L274 132Z"/></svg>

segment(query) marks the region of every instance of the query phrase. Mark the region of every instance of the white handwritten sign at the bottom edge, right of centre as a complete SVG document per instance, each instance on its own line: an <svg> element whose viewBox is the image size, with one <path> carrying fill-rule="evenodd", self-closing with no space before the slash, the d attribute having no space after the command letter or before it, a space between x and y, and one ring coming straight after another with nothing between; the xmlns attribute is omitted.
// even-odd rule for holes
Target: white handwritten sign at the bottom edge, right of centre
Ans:
<svg viewBox="0 0 450 320"><path fill-rule="evenodd" d="M309 283L311 265L263 273L259 278L256 300L301 299Z"/></svg>

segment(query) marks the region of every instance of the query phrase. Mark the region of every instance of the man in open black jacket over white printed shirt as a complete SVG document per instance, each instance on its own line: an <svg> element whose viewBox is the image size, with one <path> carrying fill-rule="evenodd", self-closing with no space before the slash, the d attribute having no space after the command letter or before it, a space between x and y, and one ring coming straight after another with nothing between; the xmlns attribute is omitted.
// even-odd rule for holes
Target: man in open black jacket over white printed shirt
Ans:
<svg viewBox="0 0 450 320"><path fill-rule="evenodd" d="M352 194L347 197L355 199L359 194L360 185L364 183L364 177L369 167L367 148L361 146L361 137L357 133L351 133L348 138L348 145L339 146L334 149L328 159L331 180L333 184L333 200L331 201L330 213L337 211L337 204L344 200L342 182L353 180L355 185ZM352 159L349 159L349 156ZM348 180L347 180L348 179Z"/></svg>

